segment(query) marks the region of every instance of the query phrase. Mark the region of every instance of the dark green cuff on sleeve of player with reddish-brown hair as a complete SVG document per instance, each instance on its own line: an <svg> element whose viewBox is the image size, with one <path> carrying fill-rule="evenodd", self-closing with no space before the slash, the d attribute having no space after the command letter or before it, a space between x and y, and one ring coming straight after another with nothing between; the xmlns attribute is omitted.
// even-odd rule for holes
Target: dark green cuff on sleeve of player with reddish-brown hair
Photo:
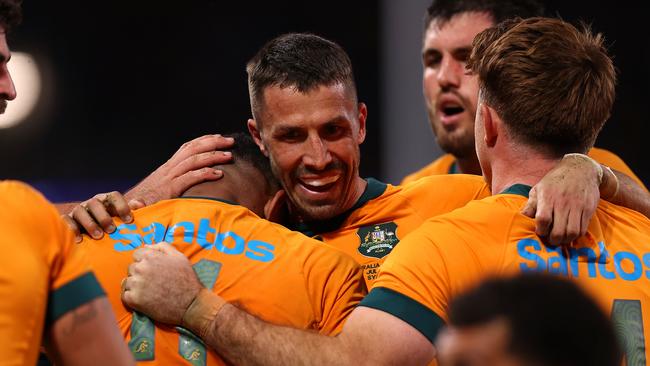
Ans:
<svg viewBox="0 0 650 366"><path fill-rule="evenodd" d="M431 309L385 287L373 288L359 306L381 310L402 319L420 331L431 343L445 326L445 321Z"/></svg>

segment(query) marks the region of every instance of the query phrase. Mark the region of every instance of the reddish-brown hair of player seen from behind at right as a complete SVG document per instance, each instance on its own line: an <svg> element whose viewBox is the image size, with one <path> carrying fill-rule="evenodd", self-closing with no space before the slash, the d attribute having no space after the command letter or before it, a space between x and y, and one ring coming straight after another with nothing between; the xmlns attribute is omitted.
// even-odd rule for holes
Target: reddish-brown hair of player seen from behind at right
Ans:
<svg viewBox="0 0 650 366"><path fill-rule="evenodd" d="M609 118L616 70L601 34L554 18L506 20L474 38L467 68L513 138L584 153Z"/></svg>

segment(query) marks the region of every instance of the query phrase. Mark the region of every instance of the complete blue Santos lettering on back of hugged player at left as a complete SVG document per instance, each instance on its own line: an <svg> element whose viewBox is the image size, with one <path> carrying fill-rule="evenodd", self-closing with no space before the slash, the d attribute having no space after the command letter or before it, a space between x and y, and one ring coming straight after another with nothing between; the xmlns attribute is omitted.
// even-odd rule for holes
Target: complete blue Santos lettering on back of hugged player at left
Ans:
<svg viewBox="0 0 650 366"><path fill-rule="evenodd" d="M198 229L196 226L194 222L190 221L182 221L168 227L159 222L154 222L143 228L139 228L135 224L122 224L109 236L117 241L113 248L118 252L134 250L144 244L155 244L162 241L171 243L176 237L177 240L183 238L183 242L198 244L206 250L214 249L231 255L244 254L248 258L260 262L270 262L275 257L273 254L275 246L270 243L261 240L246 241L233 231L217 233L214 228L210 227L208 219L201 219ZM208 234L212 234L214 240L207 240Z"/></svg>

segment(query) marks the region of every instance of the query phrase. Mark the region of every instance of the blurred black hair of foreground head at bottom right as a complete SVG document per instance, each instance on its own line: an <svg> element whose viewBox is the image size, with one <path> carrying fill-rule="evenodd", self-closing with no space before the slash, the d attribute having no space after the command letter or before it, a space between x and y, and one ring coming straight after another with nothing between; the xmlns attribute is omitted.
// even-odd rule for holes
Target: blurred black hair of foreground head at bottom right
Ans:
<svg viewBox="0 0 650 366"><path fill-rule="evenodd" d="M449 307L456 328L505 320L508 352L525 364L619 365L621 353L605 313L576 284L541 274L490 279Z"/></svg>

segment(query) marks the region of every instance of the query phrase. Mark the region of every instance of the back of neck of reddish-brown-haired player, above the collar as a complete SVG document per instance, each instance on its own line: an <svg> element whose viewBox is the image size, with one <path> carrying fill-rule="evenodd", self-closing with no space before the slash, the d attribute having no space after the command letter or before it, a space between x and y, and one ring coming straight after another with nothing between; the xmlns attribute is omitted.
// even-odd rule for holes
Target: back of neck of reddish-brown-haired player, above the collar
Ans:
<svg viewBox="0 0 650 366"><path fill-rule="evenodd" d="M496 155L496 154L495 154ZM510 150L493 156L490 161L490 188L493 194L503 192L513 184L534 186L559 162L533 149Z"/></svg>

